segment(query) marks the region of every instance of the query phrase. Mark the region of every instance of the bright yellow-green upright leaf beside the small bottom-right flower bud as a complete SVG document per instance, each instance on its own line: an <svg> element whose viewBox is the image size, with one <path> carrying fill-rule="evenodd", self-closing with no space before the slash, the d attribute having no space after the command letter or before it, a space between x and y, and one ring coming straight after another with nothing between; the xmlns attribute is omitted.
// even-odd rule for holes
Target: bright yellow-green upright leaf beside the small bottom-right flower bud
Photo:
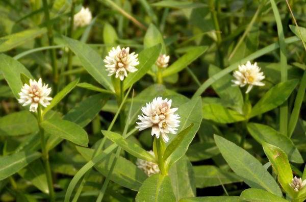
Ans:
<svg viewBox="0 0 306 202"><path fill-rule="evenodd" d="M289 185L293 179L293 175L287 155L281 148L269 143L264 142L263 148L274 170L276 171L279 184L282 185L287 193L293 196L295 192Z"/></svg>

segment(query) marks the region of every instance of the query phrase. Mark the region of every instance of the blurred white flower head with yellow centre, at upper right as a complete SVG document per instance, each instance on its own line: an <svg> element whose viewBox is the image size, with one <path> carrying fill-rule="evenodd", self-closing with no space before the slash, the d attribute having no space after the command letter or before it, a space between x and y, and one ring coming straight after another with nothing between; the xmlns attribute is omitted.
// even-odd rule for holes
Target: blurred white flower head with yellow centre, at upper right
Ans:
<svg viewBox="0 0 306 202"><path fill-rule="evenodd" d="M232 80L234 85L243 87L249 85L246 92L250 92L253 86L264 86L261 81L265 79L264 73L260 71L257 63L251 64L248 61L245 65L239 65L238 70L233 73L235 80Z"/></svg>

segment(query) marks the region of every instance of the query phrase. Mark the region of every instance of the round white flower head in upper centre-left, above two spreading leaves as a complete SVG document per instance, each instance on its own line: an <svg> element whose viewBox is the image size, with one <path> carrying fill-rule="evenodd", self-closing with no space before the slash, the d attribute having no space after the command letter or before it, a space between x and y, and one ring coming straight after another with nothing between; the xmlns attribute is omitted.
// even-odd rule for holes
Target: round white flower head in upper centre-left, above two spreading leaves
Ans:
<svg viewBox="0 0 306 202"><path fill-rule="evenodd" d="M135 72L138 62L138 54L129 53L130 47L120 48L118 45L116 48L113 47L108 56L105 57L104 62L106 63L106 70L109 72L109 76L116 73L116 78L119 77L123 81L124 77L127 77L127 72Z"/></svg>

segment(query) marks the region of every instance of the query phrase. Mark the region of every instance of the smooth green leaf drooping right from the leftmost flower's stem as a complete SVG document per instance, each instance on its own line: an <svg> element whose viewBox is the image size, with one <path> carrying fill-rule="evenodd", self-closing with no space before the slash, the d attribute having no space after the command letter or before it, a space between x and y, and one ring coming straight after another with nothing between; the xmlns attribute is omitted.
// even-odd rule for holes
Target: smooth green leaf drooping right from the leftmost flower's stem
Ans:
<svg viewBox="0 0 306 202"><path fill-rule="evenodd" d="M74 144L88 146L88 136L80 125L67 120L49 119L41 122L41 127L48 133L69 140Z"/></svg>

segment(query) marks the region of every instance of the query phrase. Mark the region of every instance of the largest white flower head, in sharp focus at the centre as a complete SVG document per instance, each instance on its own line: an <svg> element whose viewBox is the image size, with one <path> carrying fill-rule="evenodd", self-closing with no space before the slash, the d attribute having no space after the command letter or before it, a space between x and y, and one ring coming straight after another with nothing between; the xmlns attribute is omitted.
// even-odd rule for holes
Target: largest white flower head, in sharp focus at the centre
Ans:
<svg viewBox="0 0 306 202"><path fill-rule="evenodd" d="M180 116L174 114L177 108L171 109L171 99L163 99L156 97L151 103L147 103L145 107L141 108L142 115L138 115L140 122L137 122L136 128L142 131L147 128L152 128L151 135L157 138L162 136L165 142L169 141L168 133L176 134L177 127L179 127Z"/></svg>

